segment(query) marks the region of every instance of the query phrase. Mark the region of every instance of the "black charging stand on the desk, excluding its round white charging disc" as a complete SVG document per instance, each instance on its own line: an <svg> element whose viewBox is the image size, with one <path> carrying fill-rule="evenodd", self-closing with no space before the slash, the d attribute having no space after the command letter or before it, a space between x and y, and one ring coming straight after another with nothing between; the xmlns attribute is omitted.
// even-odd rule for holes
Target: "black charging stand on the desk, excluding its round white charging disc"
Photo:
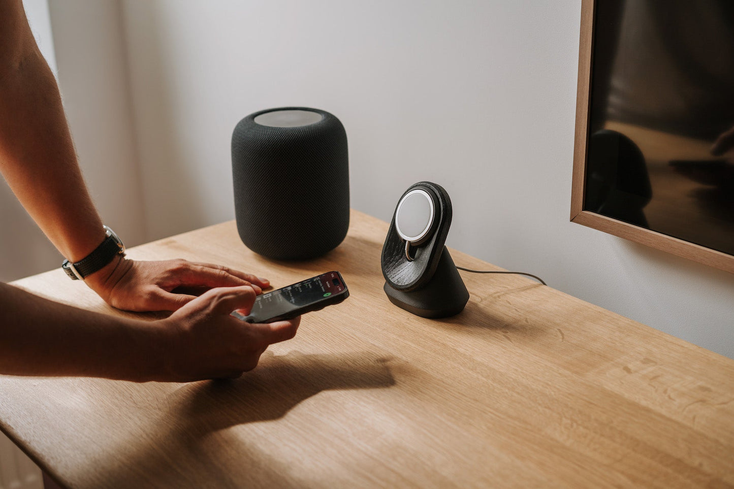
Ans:
<svg viewBox="0 0 734 489"><path fill-rule="evenodd" d="M405 240L396 231L400 206L396 207L382 247L383 289L391 303L417 316L454 316L464 309L469 292L444 245L451 226L451 199L443 187L424 181L410 186L401 200L414 189L424 190L435 204L432 235L415 247L415 258L408 259Z"/></svg>

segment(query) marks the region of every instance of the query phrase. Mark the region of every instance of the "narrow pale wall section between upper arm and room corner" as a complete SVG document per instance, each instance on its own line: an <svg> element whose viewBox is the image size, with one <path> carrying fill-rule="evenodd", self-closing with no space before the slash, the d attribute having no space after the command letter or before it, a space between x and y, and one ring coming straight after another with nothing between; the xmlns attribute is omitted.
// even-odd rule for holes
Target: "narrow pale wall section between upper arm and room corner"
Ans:
<svg viewBox="0 0 734 489"><path fill-rule="evenodd" d="M147 239L126 43L117 0L49 0L59 88L79 166L127 246Z"/></svg>

